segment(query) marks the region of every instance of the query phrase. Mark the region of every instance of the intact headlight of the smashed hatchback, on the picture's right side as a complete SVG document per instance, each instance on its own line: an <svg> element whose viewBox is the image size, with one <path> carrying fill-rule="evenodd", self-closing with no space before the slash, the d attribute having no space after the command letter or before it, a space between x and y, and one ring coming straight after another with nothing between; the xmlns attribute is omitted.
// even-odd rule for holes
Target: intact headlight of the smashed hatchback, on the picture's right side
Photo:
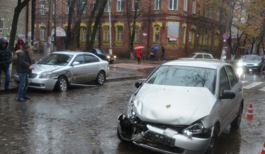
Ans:
<svg viewBox="0 0 265 154"><path fill-rule="evenodd" d="M199 137L199 138L210 138L212 127L205 128L201 122L195 123L183 129L182 133L188 138Z"/></svg>

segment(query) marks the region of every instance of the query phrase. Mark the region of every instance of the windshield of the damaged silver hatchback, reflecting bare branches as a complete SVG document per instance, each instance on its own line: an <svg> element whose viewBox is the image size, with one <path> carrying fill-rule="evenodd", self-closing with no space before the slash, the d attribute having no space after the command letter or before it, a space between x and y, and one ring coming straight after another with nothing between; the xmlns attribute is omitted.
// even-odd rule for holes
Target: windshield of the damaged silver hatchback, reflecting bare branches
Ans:
<svg viewBox="0 0 265 154"><path fill-rule="evenodd" d="M146 82L160 85L207 87L214 93L216 69L163 65L156 69Z"/></svg>

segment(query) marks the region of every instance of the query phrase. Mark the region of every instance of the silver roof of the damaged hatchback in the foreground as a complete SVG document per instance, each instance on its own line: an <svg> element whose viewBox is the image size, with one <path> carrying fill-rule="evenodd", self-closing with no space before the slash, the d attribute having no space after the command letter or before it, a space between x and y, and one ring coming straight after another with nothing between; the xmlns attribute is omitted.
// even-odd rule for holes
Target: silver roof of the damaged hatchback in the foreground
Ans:
<svg viewBox="0 0 265 154"><path fill-rule="evenodd" d="M193 67L205 67L205 68L217 69L217 67L221 64L230 65L229 63L222 62L221 60L211 60L211 59L209 60L179 59L163 63L162 65L181 65L181 66L193 66Z"/></svg>

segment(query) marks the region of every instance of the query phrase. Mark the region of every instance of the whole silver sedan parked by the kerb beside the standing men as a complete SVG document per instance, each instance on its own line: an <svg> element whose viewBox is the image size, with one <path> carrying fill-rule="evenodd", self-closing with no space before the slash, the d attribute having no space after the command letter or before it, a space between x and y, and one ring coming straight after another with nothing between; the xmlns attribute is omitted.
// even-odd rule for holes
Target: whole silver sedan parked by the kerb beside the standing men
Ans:
<svg viewBox="0 0 265 154"><path fill-rule="evenodd" d="M29 87L46 90L66 91L69 85L93 80L102 85L109 75L108 62L87 52L53 52L32 66ZM17 74L14 79L19 84Z"/></svg>

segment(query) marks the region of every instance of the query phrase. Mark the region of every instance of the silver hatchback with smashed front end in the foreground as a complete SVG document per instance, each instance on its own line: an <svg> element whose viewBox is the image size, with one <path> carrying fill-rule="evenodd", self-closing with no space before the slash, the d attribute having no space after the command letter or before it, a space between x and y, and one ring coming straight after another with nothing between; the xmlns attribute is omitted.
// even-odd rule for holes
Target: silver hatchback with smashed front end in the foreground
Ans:
<svg viewBox="0 0 265 154"><path fill-rule="evenodd" d="M216 153L221 132L240 126L242 82L229 63L169 61L136 87L118 116L121 141L162 153Z"/></svg>

